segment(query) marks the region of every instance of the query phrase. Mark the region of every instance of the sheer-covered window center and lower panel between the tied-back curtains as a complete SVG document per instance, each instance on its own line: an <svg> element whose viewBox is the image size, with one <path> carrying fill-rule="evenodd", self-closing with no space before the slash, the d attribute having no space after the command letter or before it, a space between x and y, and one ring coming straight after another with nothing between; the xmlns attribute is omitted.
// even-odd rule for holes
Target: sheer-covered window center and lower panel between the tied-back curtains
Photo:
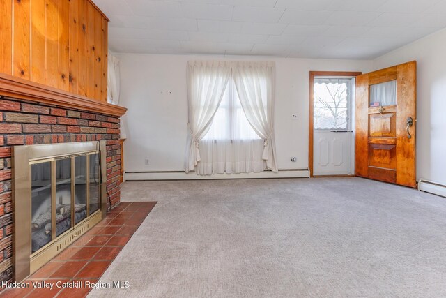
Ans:
<svg viewBox="0 0 446 298"><path fill-rule="evenodd" d="M199 147L196 170L200 175L261 172L266 167L263 140L249 125L232 78Z"/></svg>

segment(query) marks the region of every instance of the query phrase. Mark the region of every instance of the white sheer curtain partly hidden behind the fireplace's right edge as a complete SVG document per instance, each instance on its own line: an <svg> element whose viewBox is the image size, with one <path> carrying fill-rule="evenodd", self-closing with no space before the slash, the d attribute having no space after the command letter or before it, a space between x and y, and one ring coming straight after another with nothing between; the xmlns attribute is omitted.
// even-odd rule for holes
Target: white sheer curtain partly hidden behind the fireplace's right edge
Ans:
<svg viewBox="0 0 446 298"><path fill-rule="evenodd" d="M121 73L119 69L119 59L109 52L107 64L107 103L119 105L119 91L121 82ZM125 115L119 119L121 126L121 139L125 139L127 126Z"/></svg>

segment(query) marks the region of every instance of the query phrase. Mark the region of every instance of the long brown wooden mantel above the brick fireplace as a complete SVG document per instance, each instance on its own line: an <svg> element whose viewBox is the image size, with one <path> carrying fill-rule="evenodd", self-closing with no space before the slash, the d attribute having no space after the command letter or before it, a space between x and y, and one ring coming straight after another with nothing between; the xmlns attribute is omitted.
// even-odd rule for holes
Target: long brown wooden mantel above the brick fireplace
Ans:
<svg viewBox="0 0 446 298"><path fill-rule="evenodd" d="M0 73L0 96L121 117L127 109Z"/></svg>

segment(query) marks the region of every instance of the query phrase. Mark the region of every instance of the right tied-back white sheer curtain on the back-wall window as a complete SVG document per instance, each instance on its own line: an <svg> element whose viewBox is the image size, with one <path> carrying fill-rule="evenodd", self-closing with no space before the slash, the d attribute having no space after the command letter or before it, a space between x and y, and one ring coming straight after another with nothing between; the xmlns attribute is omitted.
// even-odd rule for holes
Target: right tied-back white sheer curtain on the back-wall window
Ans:
<svg viewBox="0 0 446 298"><path fill-rule="evenodd" d="M232 75L247 121L263 139L262 158L277 172L274 138L275 64L234 62Z"/></svg>

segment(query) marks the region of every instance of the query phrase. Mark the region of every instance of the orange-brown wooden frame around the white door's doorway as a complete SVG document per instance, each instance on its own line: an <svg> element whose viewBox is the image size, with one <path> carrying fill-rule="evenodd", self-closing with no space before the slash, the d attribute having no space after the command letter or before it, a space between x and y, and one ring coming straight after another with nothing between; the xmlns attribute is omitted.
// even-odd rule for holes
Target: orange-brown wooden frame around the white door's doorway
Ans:
<svg viewBox="0 0 446 298"><path fill-rule="evenodd" d="M309 72L309 117L308 117L308 167L310 177L313 175L314 163L314 77L356 77L362 75L361 72L355 71L310 71ZM354 107L353 112L354 112ZM353 175L330 175L323 177L350 177ZM318 177L318 176L316 176Z"/></svg>

